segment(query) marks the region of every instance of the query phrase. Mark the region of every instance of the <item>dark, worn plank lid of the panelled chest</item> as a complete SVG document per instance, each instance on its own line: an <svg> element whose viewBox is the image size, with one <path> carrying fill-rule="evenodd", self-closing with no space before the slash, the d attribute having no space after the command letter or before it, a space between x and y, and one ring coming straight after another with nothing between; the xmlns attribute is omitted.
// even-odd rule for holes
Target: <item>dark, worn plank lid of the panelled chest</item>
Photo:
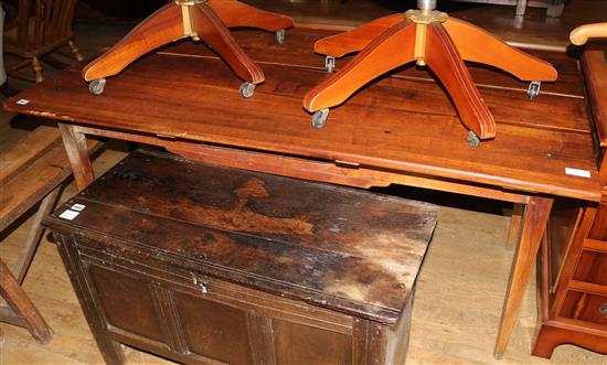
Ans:
<svg viewBox="0 0 607 365"><path fill-rule="evenodd" d="M98 245L178 257L195 272L395 323L437 211L365 191L137 151L45 225L87 239L102 235Z"/></svg>

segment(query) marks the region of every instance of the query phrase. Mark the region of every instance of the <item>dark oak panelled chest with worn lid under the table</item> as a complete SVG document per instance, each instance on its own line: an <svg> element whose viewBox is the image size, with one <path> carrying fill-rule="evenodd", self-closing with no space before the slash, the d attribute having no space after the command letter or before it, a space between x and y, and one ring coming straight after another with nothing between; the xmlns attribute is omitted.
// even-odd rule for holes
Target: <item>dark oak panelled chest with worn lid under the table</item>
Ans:
<svg viewBox="0 0 607 365"><path fill-rule="evenodd" d="M45 219L107 363L396 364L437 207L137 151Z"/></svg>

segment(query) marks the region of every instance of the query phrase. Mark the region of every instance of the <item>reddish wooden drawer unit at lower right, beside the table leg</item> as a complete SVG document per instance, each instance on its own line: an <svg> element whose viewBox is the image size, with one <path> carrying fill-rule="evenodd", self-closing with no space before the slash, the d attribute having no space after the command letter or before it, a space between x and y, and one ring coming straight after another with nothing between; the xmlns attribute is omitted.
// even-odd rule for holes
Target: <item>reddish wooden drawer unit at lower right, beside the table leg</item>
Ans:
<svg viewBox="0 0 607 365"><path fill-rule="evenodd" d="M556 346L575 344L598 353L607 353L607 318L599 312L599 304L607 302L607 281L604 271L607 256L601 254L607 232L605 206L598 210L583 206L583 215L571 234L571 248L558 256L562 273L550 286L555 286L547 313L541 318L541 329L535 340L533 354L550 358ZM599 229L599 230L596 230ZM598 233L598 234L597 234ZM603 234L603 236L600 236ZM560 237L553 236L553 240ZM592 243L590 243L592 241ZM595 250L595 246L597 250ZM544 277L549 272L544 270ZM547 288L543 288L546 292Z"/></svg>

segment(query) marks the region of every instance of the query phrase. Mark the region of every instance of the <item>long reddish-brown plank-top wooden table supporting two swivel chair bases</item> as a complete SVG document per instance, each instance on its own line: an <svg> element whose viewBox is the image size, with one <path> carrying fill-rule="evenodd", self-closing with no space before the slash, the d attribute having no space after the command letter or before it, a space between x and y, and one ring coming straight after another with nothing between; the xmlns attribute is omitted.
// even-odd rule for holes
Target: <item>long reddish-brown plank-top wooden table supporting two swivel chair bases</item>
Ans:
<svg viewBox="0 0 607 365"><path fill-rule="evenodd" d="M238 80L214 54L190 42L137 61L94 96L78 69L4 103L7 109L60 122L79 190L94 179L85 136L161 146L187 158L359 187L404 184L523 204L519 245L505 296L496 356L505 351L530 279L553 198L596 204L600 183L583 79L575 58L535 54L560 78L535 100L528 85L494 69L470 67L498 126L472 148L448 97L414 66L372 83L331 110L315 129L302 106L327 73L312 53L328 30L236 32L266 83L243 99ZM338 68L344 64L338 60ZM20 101L26 100L26 101ZM577 176L567 174L588 174ZM297 197L295 197L297 198Z"/></svg>

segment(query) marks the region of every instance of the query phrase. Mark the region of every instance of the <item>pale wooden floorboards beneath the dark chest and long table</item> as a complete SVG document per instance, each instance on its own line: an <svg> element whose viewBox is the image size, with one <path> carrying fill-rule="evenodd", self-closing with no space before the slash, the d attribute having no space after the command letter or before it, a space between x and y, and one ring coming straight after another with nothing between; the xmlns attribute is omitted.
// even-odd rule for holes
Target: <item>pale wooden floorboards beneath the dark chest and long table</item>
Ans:
<svg viewBox="0 0 607 365"><path fill-rule="evenodd" d="M116 143L116 142L114 142ZM120 143L121 144L121 143ZM116 146L116 144L114 144ZM117 148L105 150L94 160L99 173L114 167L126 153ZM71 183L63 201L77 193ZM491 204L488 206L501 206ZM441 206L423 270L416 283L411 345L407 364L491 363L497 320L503 302L503 289L513 250L505 248L509 217ZM482 226L483 234L469 239L469 233ZM29 225L4 238L2 259L11 266L19 256ZM9 364L102 364L104 359L79 309L57 249L46 235L26 279L26 291L54 331L52 345L33 341L28 331L0 323L3 332L2 355ZM479 249L482 247L482 249ZM491 262L491 265L487 265ZM462 270L462 268L466 268ZM452 273L458 275L452 275ZM36 278L36 280L31 280ZM28 280L30 280L28 282ZM49 288L53 290L49 290ZM530 340L535 334L534 282L525 292L521 319L514 328L505 362L545 364L531 355ZM444 299L449 298L449 310ZM436 313L441 313L437 321ZM472 328L472 330L471 330ZM74 351L76 348L77 351ZM132 365L173 365L160 356L127 347L127 363ZM558 364L600 364L604 355L577 346L560 346L552 362Z"/></svg>

